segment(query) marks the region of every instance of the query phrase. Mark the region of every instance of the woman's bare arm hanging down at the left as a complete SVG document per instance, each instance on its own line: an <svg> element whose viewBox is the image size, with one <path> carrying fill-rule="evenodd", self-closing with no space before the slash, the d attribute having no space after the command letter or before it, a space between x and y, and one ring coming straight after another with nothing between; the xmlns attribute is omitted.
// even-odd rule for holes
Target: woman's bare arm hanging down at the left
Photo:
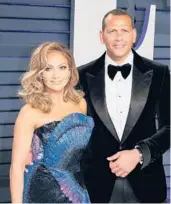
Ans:
<svg viewBox="0 0 171 204"><path fill-rule="evenodd" d="M12 203L22 203L24 186L24 168L29 154L33 131L33 111L24 106L15 123L12 148L12 162L10 168L10 190Z"/></svg>

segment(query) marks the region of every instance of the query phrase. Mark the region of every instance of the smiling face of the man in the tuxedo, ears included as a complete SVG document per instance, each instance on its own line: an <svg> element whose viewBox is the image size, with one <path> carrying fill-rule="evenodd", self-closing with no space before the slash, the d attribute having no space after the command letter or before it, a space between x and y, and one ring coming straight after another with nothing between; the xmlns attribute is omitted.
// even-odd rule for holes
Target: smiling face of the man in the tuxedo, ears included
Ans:
<svg viewBox="0 0 171 204"><path fill-rule="evenodd" d="M122 63L136 41L136 30L129 16L110 14L105 19L105 28L100 32L100 38L109 57Z"/></svg>

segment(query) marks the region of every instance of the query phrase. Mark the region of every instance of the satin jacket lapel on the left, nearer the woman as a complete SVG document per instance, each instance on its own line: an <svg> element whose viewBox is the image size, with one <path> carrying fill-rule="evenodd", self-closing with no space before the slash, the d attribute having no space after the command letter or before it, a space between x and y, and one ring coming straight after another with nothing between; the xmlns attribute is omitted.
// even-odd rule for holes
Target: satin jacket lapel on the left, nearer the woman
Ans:
<svg viewBox="0 0 171 204"><path fill-rule="evenodd" d="M97 115L100 117L104 125L111 132L111 134L120 142L118 135L116 133L115 127L111 121L111 118L108 114L106 100L105 100L105 81L104 81L104 60L103 64L96 63L94 66L99 66L100 72L94 76L90 73L86 74L87 83L89 87L90 97L92 104Z"/></svg>

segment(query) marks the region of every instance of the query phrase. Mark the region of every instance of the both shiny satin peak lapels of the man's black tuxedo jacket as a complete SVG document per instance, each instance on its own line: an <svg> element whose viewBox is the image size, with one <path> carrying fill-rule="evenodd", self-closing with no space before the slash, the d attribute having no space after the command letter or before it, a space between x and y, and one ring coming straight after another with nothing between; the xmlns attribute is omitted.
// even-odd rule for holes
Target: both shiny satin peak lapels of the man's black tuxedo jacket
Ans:
<svg viewBox="0 0 171 204"><path fill-rule="evenodd" d="M129 136L144 109L153 76L153 70L144 64L142 57L140 57L134 50L133 53L134 67L131 102L125 129L121 139L121 144L123 144ZM111 134L116 138L116 140L120 142L106 106L104 56L105 54L97 60L97 62L92 67L92 70L90 70L89 73L86 73L86 78L92 104L97 115L100 117Z"/></svg>

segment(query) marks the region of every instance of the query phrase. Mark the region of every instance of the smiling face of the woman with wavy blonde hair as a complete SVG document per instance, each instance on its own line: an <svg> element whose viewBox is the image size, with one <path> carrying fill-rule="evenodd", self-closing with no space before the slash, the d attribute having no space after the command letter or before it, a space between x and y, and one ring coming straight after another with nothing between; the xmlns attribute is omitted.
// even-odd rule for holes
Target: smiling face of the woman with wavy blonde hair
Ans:
<svg viewBox="0 0 171 204"><path fill-rule="evenodd" d="M67 59L60 52L54 51L47 55L47 67L42 78L47 92L61 92L70 79L70 68Z"/></svg>

